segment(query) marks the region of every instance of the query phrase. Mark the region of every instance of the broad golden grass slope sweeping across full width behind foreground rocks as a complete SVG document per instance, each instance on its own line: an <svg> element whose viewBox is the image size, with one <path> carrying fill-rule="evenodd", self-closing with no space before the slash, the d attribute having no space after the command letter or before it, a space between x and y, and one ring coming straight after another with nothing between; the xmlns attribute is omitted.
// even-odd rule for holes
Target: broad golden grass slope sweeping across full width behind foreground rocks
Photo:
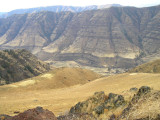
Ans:
<svg viewBox="0 0 160 120"><path fill-rule="evenodd" d="M60 72L58 75L60 78L62 73ZM47 88L46 85L54 86L54 82L49 80L50 75L46 76L45 82L43 77L44 75L40 77L41 80L33 85L12 88L9 85L0 87L0 114L13 115L14 111L22 112L29 108L42 106L58 115L68 111L77 102L92 96L96 91L105 91L106 94L110 92L121 94L132 87L144 85L160 90L160 74L125 73L100 78L83 85L77 84L59 89ZM77 76L70 80L73 79L77 79ZM13 85L17 84L19 83ZM42 89L39 89L40 87Z"/></svg>

